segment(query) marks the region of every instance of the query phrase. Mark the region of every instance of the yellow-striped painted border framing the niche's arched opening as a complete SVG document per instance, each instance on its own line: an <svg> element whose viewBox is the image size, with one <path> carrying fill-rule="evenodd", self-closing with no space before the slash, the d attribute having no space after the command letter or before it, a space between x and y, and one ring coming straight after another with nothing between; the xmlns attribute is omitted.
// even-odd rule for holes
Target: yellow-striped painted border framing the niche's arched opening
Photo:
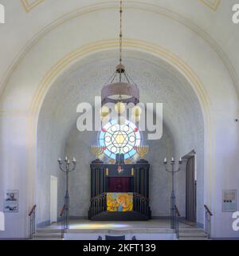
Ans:
<svg viewBox="0 0 239 256"><path fill-rule="evenodd" d="M87 57L90 53L96 53L97 51L107 50L107 49L116 49L118 47L117 39L108 39L104 41L97 41L91 45L84 45L80 47L80 49L76 49L75 51L67 54L60 61L54 65L48 73L45 74L45 77L41 80L40 84L37 87L37 92L35 93L31 107L30 107L30 115L29 115L29 124L27 131L27 138L29 140L29 206L35 203L35 174L36 174L36 156L35 156L35 146L37 145L37 120L38 115L41 110L41 104L44 100L45 94L47 93L50 86L56 81L57 77L61 75L65 70L69 69L69 66L76 61L80 61L80 59ZM159 58L163 58L170 65L173 65L174 68L178 69L180 73L184 77L186 77L187 81L192 85L195 93L198 96L202 107L202 113L204 117L204 127L205 127L205 149L208 149L207 152L208 157L205 160L207 161L207 166L204 167L207 173L210 174L209 179L204 179L204 182L207 184L206 187L210 187L210 198L208 198L208 202L210 206L213 205L212 200L212 191L214 191L214 182L215 182L215 168L214 168L214 127L213 127L213 117L210 107L210 101L208 96L204 90L202 85L202 81L198 78L196 73L187 65L182 59L180 59L174 53L171 53L167 49L159 45L153 45L147 41L139 41L132 39L125 39L123 41L123 47L127 49L136 49L143 50L144 52L154 54ZM205 154L205 152L204 152ZM213 208L214 209L214 208ZM213 210L214 211L214 210Z"/></svg>

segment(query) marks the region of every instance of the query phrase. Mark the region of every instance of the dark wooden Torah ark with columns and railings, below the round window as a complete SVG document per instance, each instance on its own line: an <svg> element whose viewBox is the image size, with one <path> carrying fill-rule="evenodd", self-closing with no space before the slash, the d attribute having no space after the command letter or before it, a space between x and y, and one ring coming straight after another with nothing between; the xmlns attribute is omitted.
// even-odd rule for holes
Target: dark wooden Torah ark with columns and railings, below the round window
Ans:
<svg viewBox="0 0 239 256"><path fill-rule="evenodd" d="M149 207L149 169L146 160L125 164L91 163L91 206L88 219L92 220L147 220ZM108 211L108 193L128 193L132 198L131 211Z"/></svg>

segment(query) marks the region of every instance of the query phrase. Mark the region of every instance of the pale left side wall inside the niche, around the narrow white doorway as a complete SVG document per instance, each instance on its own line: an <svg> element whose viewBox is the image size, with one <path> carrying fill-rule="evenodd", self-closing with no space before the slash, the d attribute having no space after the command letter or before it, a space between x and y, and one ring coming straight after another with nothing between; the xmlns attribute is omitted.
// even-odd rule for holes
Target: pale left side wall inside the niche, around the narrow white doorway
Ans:
<svg viewBox="0 0 239 256"><path fill-rule="evenodd" d="M44 225L50 219L50 177L57 180L57 217L64 205L65 196L65 175L60 171L57 160L64 159L65 140L62 119L56 117L57 101L53 102L53 107L49 109L48 104L44 104L39 116L39 126L37 134L37 224Z"/></svg>

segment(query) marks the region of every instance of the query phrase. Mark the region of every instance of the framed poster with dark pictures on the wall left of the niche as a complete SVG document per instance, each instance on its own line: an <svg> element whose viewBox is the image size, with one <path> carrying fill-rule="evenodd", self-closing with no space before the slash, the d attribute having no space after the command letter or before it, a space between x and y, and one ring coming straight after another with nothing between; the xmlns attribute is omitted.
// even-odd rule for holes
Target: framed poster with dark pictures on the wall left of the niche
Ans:
<svg viewBox="0 0 239 256"><path fill-rule="evenodd" d="M4 212L18 212L19 191L8 190L4 192Z"/></svg>

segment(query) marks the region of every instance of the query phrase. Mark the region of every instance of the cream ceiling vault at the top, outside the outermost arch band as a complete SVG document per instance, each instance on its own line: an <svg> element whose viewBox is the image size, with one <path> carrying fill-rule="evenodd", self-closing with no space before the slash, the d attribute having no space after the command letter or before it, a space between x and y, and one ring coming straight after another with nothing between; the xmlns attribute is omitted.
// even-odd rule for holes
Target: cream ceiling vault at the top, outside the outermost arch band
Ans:
<svg viewBox="0 0 239 256"><path fill-rule="evenodd" d="M237 87L237 92L239 92L239 63L237 54L235 54L239 32L231 18L233 0L226 2L219 0L180 1L180 5L175 5L174 0L125 1L125 9L140 7L144 10L158 10L159 14L164 13L163 15L170 13L171 18L190 27L194 33L198 33L206 40L221 57ZM72 0L66 4L63 0L57 0L57 2L19 0L18 2L2 1L2 3L6 6L6 24L1 26L0 30L2 38L0 54L4 60L0 62L1 88L6 85L16 64L25 55L25 51L29 50L37 37L41 37L50 29L50 24L56 25L57 22L61 24L64 17L69 18L69 15L75 14L74 10L87 8L100 10L104 6L117 8L119 1L87 0L79 2ZM217 30L218 26L220 26L220 30Z"/></svg>

